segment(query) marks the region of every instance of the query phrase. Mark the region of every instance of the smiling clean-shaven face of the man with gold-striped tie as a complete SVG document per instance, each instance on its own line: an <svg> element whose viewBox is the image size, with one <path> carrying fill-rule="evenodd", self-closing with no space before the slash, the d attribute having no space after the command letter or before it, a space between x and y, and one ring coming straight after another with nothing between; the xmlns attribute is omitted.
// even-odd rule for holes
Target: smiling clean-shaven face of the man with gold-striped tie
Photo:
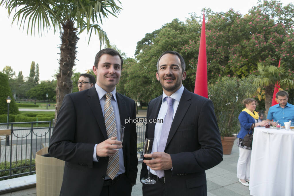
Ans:
<svg viewBox="0 0 294 196"><path fill-rule="evenodd" d="M121 59L118 55L103 54L97 68L93 66L93 71L97 76L98 86L106 92L111 92L121 78Z"/></svg>

